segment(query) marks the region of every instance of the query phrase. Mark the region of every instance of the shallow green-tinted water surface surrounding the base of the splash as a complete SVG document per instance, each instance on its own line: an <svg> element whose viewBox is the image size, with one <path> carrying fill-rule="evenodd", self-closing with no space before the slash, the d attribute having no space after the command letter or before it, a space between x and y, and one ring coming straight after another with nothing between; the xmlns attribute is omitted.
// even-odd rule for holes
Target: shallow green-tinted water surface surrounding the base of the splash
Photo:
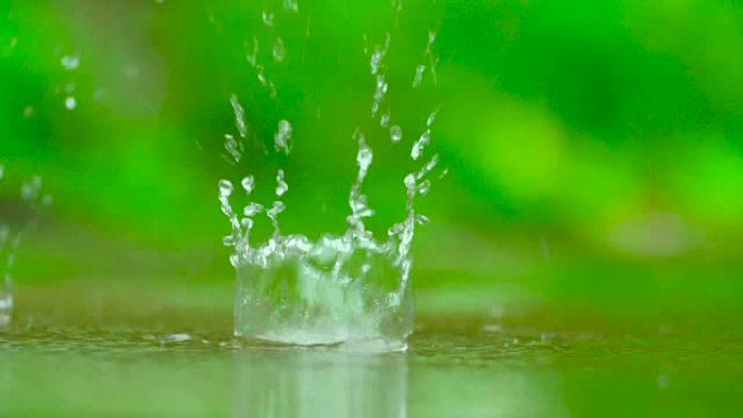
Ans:
<svg viewBox="0 0 743 418"><path fill-rule="evenodd" d="M743 345L735 333L425 313L407 353L362 354L241 346L225 309L127 316L101 314L98 305L65 316L26 301L0 332L0 416L732 417L743 410Z"/></svg>

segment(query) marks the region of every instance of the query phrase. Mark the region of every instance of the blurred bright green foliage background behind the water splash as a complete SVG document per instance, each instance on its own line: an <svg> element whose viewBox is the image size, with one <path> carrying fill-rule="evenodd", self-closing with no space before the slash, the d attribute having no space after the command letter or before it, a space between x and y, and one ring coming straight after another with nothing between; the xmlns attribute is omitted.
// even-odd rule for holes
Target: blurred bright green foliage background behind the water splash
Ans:
<svg viewBox="0 0 743 418"><path fill-rule="evenodd" d="M739 2L287 4L0 5L0 221L16 231L38 218L13 266L18 304L24 288L86 282L230 307L218 179L255 174L267 199L282 168L282 230L340 232L360 128L375 150L365 191L381 237L404 214L410 144L438 110L427 155L448 175L416 203L431 219L413 249L421 313L736 326ZM382 107L400 144L370 118L364 50L387 34ZM427 73L413 88L417 65ZM225 135L239 138L232 97L249 131L237 164L225 149ZM272 148L280 119L293 127L289 156ZM35 175L51 206L22 198Z"/></svg>

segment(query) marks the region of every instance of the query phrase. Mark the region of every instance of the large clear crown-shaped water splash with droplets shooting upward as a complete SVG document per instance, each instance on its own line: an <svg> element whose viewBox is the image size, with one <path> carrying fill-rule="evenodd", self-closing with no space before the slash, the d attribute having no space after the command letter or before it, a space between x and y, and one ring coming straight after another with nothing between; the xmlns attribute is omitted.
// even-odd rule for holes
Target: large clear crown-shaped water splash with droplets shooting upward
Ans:
<svg viewBox="0 0 743 418"><path fill-rule="evenodd" d="M401 2L394 3L396 12ZM285 10L298 12L295 1L287 0ZM270 17L266 17L266 16ZM273 25L274 14L263 12L266 25ZM417 84L430 74L435 75L436 60L432 43L436 35L429 34L425 58L429 59L429 71L416 71ZM277 38L275 42L280 41ZM259 41L254 38L249 62L259 78L264 77L257 61ZM389 140L403 142L403 130L392 124L389 111L379 116L386 100L386 56L390 49L390 35L373 49L365 49L375 90L372 97L373 119L389 129ZM286 50L281 41L277 56L274 45L274 61L280 64ZM280 59L279 59L280 58ZM425 68L425 67L424 67ZM266 81L267 83L267 81ZM248 127L244 110L230 98L240 137ZM432 125L437 112L432 112L420 137L411 144L411 157L418 161L431 141ZM293 128L288 119L280 119L274 135L277 153L290 154ZM230 137L231 138L231 137ZM301 235L282 235L278 216L285 212L281 200L289 192L284 169L276 175L275 197L270 205L264 206L250 201L242 211L230 205L235 187L229 180L218 183L218 200L222 212L229 219L231 231L224 243L232 248L230 262L238 274L236 296L235 333L239 337L257 338L289 344L341 344L360 341L381 341L389 350L404 350L405 339L413 331L413 304L411 300L410 274L413 264L411 248L416 225L428 221L415 211L415 199L425 195L431 187L429 174L437 167L438 155L431 156L416 172L407 174L402 183L406 194L405 218L392 225L388 237L380 240L366 229L364 219L374 215L368 199L363 192L364 181L372 169L374 151L367 136L357 128L353 135L357 143L356 179L349 193L351 210L347 218L348 228L341 235L323 235L313 241ZM225 145L227 148L227 144ZM229 150L241 150L230 141ZM232 154L230 152L230 154ZM235 154L232 154L235 156ZM235 159L239 161L239 159ZM241 181L250 198L255 190L254 177ZM265 242L253 242L253 227L265 215L273 226L273 235Z"/></svg>

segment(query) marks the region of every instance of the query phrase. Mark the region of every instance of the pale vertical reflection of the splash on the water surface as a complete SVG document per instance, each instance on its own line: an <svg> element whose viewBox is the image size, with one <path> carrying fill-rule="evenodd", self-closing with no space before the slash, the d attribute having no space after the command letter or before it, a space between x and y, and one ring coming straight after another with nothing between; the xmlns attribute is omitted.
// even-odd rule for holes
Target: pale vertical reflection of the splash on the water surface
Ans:
<svg viewBox="0 0 743 418"><path fill-rule="evenodd" d="M235 358L235 417L407 417L405 354L245 350Z"/></svg>

